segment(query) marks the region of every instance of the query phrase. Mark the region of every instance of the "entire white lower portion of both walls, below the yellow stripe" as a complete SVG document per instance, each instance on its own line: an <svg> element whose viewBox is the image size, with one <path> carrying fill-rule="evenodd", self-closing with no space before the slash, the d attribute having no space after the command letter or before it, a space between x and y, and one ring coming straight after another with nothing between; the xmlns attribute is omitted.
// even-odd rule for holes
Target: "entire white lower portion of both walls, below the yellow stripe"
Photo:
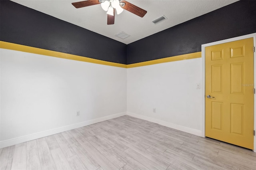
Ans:
<svg viewBox="0 0 256 170"><path fill-rule="evenodd" d="M202 58L125 69L0 49L0 64L1 148L126 111L202 135Z"/></svg>

